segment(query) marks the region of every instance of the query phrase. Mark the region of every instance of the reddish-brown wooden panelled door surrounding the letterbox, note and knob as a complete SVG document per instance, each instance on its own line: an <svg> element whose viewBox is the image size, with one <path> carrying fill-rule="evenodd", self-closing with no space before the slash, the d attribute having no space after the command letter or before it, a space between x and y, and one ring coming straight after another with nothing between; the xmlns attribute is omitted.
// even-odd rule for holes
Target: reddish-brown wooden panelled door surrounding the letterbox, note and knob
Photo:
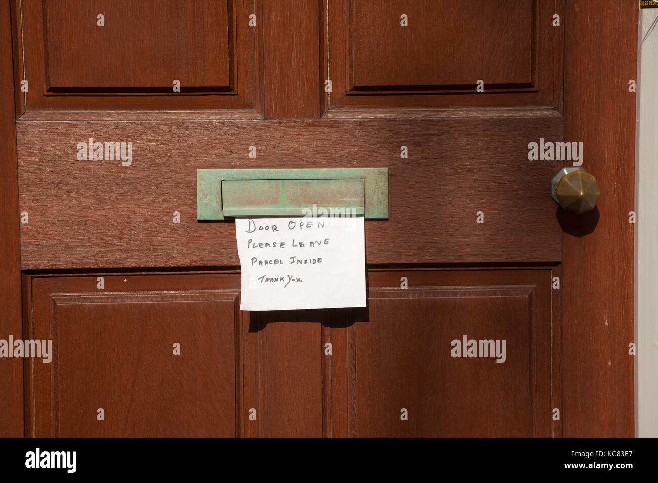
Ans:
<svg viewBox="0 0 658 483"><path fill-rule="evenodd" d="M53 354L2 361L0 434L632 436L637 16L613 4L1 2L0 337ZM596 210L557 208L571 161L529 160L540 139L583 143ZM368 307L240 311L197 168L343 167L389 168Z"/></svg>

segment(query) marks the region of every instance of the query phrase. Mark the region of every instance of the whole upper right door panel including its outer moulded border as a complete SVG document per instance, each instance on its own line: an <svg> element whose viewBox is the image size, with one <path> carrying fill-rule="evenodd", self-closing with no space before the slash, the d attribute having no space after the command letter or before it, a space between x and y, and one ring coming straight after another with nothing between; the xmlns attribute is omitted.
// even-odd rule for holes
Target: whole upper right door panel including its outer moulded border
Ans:
<svg viewBox="0 0 658 483"><path fill-rule="evenodd" d="M554 0L330 1L330 107L558 105L559 12Z"/></svg>

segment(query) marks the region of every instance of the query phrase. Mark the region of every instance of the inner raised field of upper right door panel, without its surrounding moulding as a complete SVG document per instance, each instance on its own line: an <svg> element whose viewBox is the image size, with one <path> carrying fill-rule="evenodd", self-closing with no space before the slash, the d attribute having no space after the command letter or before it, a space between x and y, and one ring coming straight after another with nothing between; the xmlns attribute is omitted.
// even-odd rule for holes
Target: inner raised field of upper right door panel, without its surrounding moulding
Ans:
<svg viewBox="0 0 658 483"><path fill-rule="evenodd" d="M532 1L350 0L347 87L472 90L475 78L493 90L534 87L535 8ZM403 27L409 18L411 28Z"/></svg>

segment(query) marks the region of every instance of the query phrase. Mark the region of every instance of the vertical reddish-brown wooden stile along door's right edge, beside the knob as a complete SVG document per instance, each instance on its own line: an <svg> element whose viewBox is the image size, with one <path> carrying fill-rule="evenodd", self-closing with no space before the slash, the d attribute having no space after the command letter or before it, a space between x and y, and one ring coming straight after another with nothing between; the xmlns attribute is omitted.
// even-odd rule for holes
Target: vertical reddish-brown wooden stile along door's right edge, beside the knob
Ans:
<svg viewBox="0 0 658 483"><path fill-rule="evenodd" d="M638 11L567 1L565 140L584 146L597 210L564 216L565 437L634 435L633 235ZM593 81L594 80L594 81ZM592 228L595 227L593 230ZM591 233L590 233L591 232Z"/></svg>

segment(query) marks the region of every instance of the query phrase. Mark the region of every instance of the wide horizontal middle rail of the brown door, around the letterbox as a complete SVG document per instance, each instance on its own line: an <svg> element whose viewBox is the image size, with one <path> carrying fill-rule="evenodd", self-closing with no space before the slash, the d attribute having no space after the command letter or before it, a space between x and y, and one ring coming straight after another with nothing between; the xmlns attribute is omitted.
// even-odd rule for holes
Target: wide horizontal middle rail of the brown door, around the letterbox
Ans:
<svg viewBox="0 0 658 483"><path fill-rule="evenodd" d="M297 122L35 117L17 123L20 209L30 214L21 225L26 269L238 265L234 224L196 220L196 169L308 160L314 168L389 168L390 219L366 223L369 264L561 258L555 202L545 195L559 162L527 158L528 143L561 137L553 110ZM77 160L76 146L89 137L132 142L132 164Z"/></svg>

